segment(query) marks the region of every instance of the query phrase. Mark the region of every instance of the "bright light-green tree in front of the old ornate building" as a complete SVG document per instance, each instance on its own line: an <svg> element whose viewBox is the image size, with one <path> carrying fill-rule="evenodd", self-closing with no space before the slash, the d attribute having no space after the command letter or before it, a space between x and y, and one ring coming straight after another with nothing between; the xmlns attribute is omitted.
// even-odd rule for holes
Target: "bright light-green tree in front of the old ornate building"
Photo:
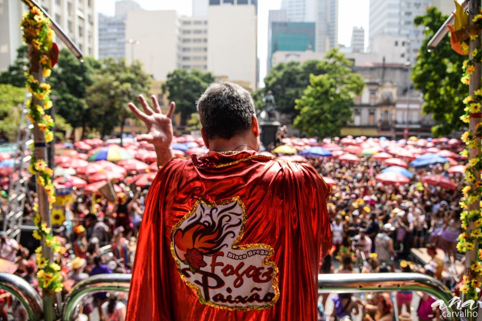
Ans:
<svg viewBox="0 0 482 321"><path fill-rule="evenodd" d="M326 61L317 68L325 71L309 76L309 85L300 99L296 99L294 126L309 136L333 137L351 120L351 105L360 95L365 83L360 74L351 72L352 62L337 49L328 52Z"/></svg>

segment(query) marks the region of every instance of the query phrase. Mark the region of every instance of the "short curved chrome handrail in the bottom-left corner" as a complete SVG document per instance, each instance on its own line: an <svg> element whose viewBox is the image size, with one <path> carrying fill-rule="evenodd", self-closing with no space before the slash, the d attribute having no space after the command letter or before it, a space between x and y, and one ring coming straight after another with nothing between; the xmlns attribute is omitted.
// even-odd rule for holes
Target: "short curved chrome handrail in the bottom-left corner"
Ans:
<svg viewBox="0 0 482 321"><path fill-rule="evenodd" d="M15 274L0 272L0 289L12 293L20 301L27 311L28 320L43 318L42 300L27 281Z"/></svg>

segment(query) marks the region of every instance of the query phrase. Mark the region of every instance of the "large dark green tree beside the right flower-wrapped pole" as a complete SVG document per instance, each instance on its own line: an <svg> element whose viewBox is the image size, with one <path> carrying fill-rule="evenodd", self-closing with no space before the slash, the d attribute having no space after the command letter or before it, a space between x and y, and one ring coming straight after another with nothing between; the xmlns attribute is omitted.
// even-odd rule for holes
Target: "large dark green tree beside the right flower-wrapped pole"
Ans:
<svg viewBox="0 0 482 321"><path fill-rule="evenodd" d="M415 17L415 25L425 26L425 40L417 53L412 80L415 89L424 94L423 112L431 113L433 120L440 123L432 127L434 136L446 136L461 129L464 123L459 118L465 113L462 100L469 93L469 86L460 82L466 57L452 49L450 38L444 37L435 49L427 49L428 41L446 19L435 7Z"/></svg>

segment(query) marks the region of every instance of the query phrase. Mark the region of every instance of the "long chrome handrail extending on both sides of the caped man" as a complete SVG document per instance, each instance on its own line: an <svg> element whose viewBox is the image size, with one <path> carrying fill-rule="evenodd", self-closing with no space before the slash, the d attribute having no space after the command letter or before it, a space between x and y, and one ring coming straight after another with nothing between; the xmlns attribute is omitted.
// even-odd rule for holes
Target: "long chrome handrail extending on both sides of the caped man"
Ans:
<svg viewBox="0 0 482 321"><path fill-rule="evenodd" d="M131 274L98 274L75 285L64 301L63 319L73 320L86 296L106 291L129 291ZM319 293L423 291L448 306L454 297L439 281L420 273L319 274ZM455 320L455 319L454 319Z"/></svg>

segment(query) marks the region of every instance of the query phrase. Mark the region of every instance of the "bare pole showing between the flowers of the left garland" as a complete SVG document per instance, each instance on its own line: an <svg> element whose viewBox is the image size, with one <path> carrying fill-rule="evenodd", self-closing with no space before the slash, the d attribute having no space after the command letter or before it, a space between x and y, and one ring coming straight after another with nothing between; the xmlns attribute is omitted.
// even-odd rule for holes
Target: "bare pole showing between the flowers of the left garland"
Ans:
<svg viewBox="0 0 482 321"><path fill-rule="evenodd" d="M44 80L43 80L41 69L38 72L36 73L32 72L31 74L33 74L35 79L39 81L39 84L43 83ZM35 97L32 97L32 102L31 102L32 108L37 104L40 106L43 106L43 100L39 100L39 99L36 99ZM33 138L34 138L34 144L35 144L34 153L35 153L36 160L45 160L45 162L48 163L47 148L45 144L45 135L40 130L37 122L34 122ZM39 214L42 218L42 222L47 223L47 227L51 227L52 223L50 220L50 208L49 208L49 201L47 198L47 192L45 191L43 186L40 185L38 182L36 183L36 187L37 187L37 198L39 202ZM54 252L52 251L52 248L45 246L43 241L42 241L42 256L48 259L49 263L54 261ZM46 321L57 320L57 316L55 314L55 307L54 307L54 303L55 303L54 294L44 292L42 294L42 298L43 298L43 309L45 314L44 315L45 320Z"/></svg>

